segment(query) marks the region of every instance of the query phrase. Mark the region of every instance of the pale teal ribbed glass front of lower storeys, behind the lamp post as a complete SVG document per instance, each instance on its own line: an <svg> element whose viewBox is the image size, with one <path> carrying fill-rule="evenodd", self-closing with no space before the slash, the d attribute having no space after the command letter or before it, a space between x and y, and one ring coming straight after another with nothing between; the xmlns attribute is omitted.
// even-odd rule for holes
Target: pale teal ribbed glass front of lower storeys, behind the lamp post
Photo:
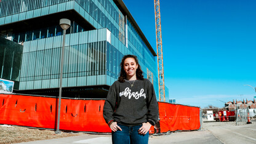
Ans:
<svg viewBox="0 0 256 144"><path fill-rule="evenodd" d="M106 50L110 46L106 31L66 34L63 87L106 84ZM89 38L89 33L95 37ZM55 36L24 42L20 90L58 87L62 39Z"/></svg>

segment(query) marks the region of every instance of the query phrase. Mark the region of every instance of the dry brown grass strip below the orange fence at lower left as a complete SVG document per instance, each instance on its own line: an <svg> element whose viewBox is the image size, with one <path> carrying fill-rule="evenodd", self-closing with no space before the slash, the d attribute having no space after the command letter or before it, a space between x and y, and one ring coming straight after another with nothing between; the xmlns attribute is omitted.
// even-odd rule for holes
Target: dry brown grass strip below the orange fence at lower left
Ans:
<svg viewBox="0 0 256 144"><path fill-rule="evenodd" d="M0 143L21 143L35 140L71 137L83 133L62 132L55 134L54 130L40 130L22 126L0 125Z"/></svg>

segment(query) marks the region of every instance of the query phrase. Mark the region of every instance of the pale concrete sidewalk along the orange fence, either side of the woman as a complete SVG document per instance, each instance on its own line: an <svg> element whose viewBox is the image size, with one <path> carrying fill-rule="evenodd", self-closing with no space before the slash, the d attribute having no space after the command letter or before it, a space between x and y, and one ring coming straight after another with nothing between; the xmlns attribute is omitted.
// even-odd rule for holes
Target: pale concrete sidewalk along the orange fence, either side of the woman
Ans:
<svg viewBox="0 0 256 144"><path fill-rule="evenodd" d="M51 140L39 140L26 143L87 143L87 144L111 144L111 135L84 134L76 137L56 138ZM174 132L169 135L150 135L150 144L160 143L222 143L209 130L197 130L191 132Z"/></svg>

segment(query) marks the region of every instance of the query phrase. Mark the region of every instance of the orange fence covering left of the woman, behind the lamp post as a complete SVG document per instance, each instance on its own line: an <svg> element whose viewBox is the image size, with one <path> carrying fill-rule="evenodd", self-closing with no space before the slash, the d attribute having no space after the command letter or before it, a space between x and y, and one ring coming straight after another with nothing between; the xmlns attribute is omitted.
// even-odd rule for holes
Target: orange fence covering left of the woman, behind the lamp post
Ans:
<svg viewBox="0 0 256 144"><path fill-rule="evenodd" d="M0 124L57 129L58 98L0 94ZM62 99L60 129L111 132L103 118L105 100Z"/></svg>

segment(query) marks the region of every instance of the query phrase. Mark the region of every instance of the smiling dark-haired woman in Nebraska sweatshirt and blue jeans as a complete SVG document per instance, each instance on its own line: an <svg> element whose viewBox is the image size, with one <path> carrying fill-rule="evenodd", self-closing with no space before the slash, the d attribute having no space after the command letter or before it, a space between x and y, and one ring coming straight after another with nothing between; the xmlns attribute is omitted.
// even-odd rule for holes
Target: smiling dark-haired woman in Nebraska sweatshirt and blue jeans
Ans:
<svg viewBox="0 0 256 144"><path fill-rule="evenodd" d="M149 130L158 121L153 84L143 78L135 55L125 55L121 72L106 97L103 117L113 143L148 143Z"/></svg>

